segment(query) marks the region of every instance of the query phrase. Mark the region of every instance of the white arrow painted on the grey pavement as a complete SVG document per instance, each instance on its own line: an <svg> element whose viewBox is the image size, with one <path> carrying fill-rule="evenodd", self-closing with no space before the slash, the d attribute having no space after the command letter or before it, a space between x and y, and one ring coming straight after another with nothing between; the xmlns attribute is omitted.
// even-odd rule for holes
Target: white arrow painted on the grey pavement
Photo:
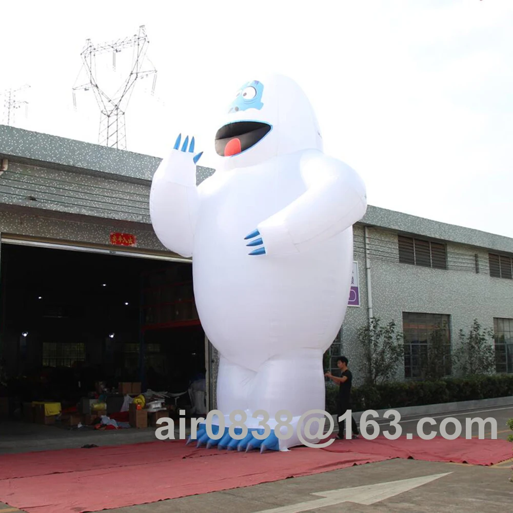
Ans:
<svg viewBox="0 0 513 513"><path fill-rule="evenodd" d="M430 483L436 479L448 476L452 472L441 474L432 474L431 476L422 476L420 478L402 479L400 481L389 481L387 483L376 483L353 488L340 488L337 490L318 491L311 495L322 497L314 501L301 502L299 504L290 504L272 509L263 509L256 513L301 513L311 509L334 506L342 502L354 502L356 504L370 505L381 502L390 497L403 494L405 491L412 490L418 486Z"/></svg>

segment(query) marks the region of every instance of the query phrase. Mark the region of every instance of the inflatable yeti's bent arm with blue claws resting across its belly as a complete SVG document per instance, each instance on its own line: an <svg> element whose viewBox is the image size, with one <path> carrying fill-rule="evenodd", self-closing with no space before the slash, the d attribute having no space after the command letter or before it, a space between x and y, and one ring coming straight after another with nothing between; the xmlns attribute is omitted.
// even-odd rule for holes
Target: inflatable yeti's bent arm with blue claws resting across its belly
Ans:
<svg viewBox="0 0 513 513"><path fill-rule="evenodd" d="M304 251L346 230L365 215L365 185L356 171L319 151L306 153L300 166L307 190L246 237L257 238L250 243L257 247L251 254Z"/></svg>

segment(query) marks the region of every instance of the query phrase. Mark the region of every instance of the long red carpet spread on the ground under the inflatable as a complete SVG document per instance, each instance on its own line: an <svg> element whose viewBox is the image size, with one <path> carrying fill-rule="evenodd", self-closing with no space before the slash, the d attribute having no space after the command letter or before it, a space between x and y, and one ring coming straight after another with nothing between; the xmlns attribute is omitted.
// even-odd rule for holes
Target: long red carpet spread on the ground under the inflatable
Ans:
<svg viewBox="0 0 513 513"><path fill-rule="evenodd" d="M0 501L29 513L83 513L308 476L392 458L490 465L505 440L335 441L289 452L196 449L184 441L0 456Z"/></svg>

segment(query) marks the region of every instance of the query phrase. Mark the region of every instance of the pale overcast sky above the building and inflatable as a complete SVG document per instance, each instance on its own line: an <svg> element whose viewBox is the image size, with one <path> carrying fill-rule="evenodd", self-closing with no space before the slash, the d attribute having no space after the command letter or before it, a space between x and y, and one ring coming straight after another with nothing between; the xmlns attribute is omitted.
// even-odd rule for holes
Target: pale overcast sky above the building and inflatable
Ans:
<svg viewBox="0 0 513 513"><path fill-rule="evenodd" d="M78 91L73 108L80 53L87 38L145 25L156 88L152 96L151 78L135 84L129 151L162 157L182 132L205 151L200 164L215 167L218 116L234 92L260 70L281 72L303 87L326 153L361 174L369 204L513 237L513 2L306 5L4 2L0 89L30 85L15 126L96 143L92 93ZM98 56L98 84L115 91L130 61L119 54L114 73L112 55Z"/></svg>

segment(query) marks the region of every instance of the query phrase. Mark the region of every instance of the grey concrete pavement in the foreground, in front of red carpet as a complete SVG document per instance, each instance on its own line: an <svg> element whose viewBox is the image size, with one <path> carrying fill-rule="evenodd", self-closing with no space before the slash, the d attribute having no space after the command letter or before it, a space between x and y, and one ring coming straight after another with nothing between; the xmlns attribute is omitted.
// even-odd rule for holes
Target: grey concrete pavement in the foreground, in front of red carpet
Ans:
<svg viewBox="0 0 513 513"><path fill-rule="evenodd" d="M389 460L315 476L110 511L112 513L218 513L219 511L259 513L283 506L292 506L290 511L298 511L297 505L304 503L301 511L309 510L318 513L339 513L344 509L354 513L398 513L400 511L511 513L513 483L508 481L510 472L508 466L487 468L413 460ZM311 495L315 492L361 487L439 473L448 473L448 475L374 504L365 505L349 501L309 509L314 501L319 500L318 496ZM354 493L354 500L358 500L357 492ZM308 505L310 501L311 506ZM285 512L282 510L282 513Z"/></svg>

